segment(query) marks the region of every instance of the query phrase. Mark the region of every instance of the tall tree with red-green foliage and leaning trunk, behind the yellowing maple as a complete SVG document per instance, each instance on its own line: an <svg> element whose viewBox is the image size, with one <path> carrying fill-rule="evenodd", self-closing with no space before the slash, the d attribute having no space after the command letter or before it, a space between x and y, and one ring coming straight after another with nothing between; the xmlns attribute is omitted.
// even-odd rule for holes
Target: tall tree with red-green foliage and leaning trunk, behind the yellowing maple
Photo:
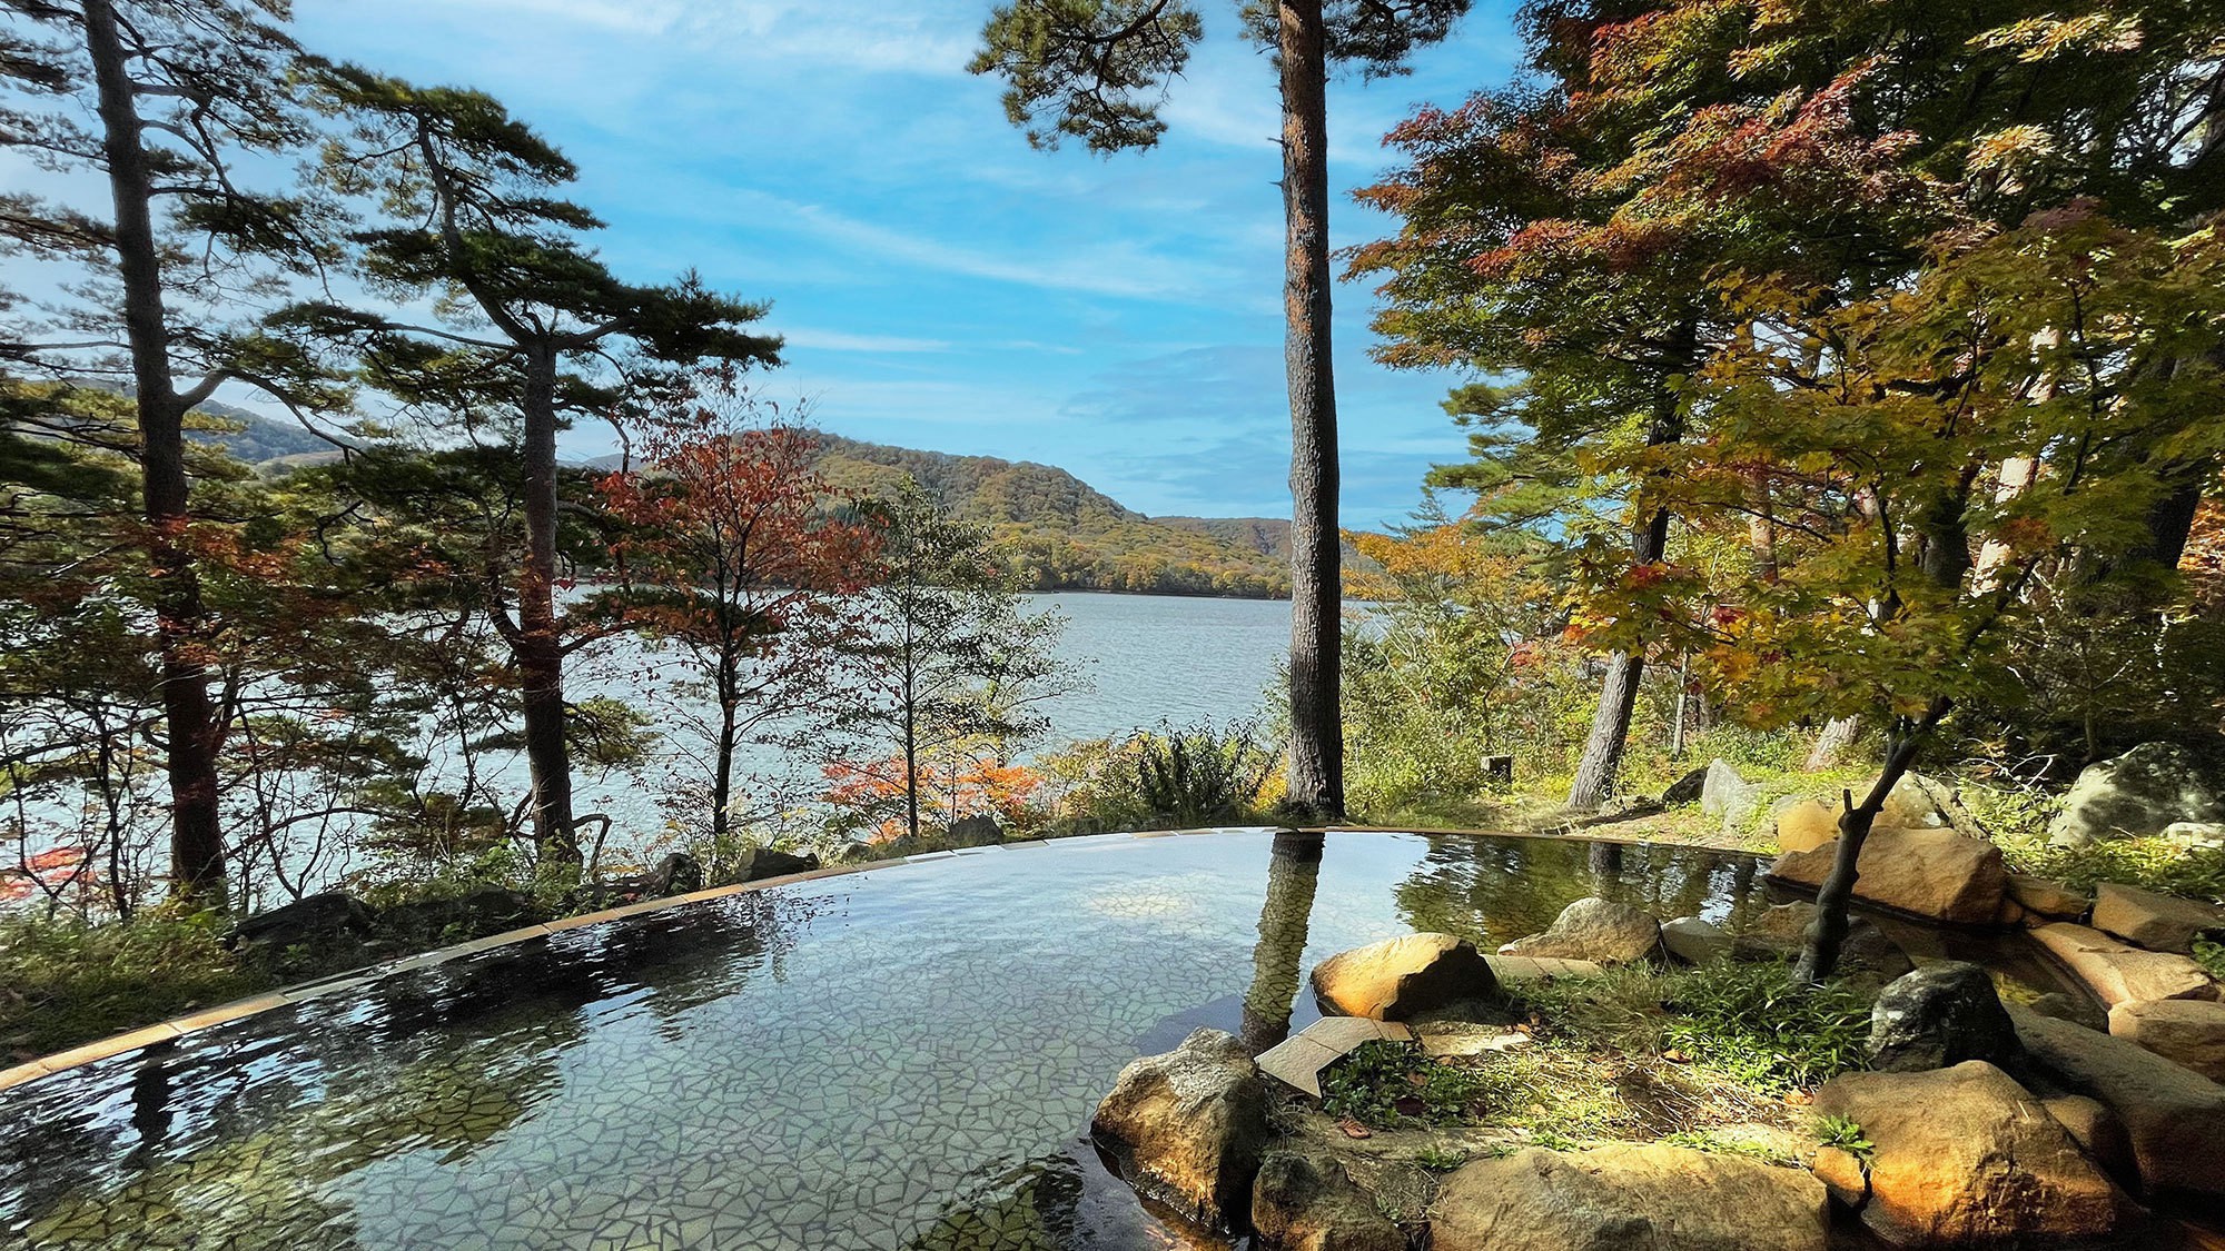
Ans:
<svg viewBox="0 0 2225 1251"><path fill-rule="evenodd" d="M1867 69L1780 93L1738 60L1742 13L1529 4L1533 78L1400 125L1391 145L1408 165L1359 191L1402 218L1353 263L1384 278L1380 358L1513 378L1468 414L1504 432L1497 479L1684 439L1682 381L1747 321L1718 274L1860 287L1902 272L1938 220L1931 185L1898 165L1900 138L1865 127ZM1584 487L1598 512L1640 483L1593 474ZM1749 481L1749 508L1764 510L1767 490ZM1671 521L1622 508L1624 563L1658 568ZM1571 808L1613 792L1644 661L1609 654Z"/></svg>

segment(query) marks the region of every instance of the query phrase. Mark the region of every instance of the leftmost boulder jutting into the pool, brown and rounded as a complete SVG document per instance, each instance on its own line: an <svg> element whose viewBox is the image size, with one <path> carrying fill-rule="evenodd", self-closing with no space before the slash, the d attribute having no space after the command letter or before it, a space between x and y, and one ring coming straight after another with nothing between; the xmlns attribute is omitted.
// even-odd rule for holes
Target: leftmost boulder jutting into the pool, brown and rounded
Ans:
<svg viewBox="0 0 2225 1251"><path fill-rule="evenodd" d="M1202 1028L1126 1068L1090 1133L1144 1195L1208 1229L1242 1229L1266 1149L1266 1082L1233 1035Z"/></svg>

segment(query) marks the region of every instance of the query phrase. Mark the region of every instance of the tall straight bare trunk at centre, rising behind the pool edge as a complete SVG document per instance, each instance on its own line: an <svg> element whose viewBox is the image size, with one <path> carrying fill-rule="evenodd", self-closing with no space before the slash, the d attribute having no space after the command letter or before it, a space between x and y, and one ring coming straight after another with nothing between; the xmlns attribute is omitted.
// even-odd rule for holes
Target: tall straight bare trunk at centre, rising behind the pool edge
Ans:
<svg viewBox="0 0 2225 1251"><path fill-rule="evenodd" d="M1279 0L1284 363L1290 376L1290 790L1344 819L1344 626L1337 536L1337 390L1328 352L1328 62L1322 0Z"/></svg>

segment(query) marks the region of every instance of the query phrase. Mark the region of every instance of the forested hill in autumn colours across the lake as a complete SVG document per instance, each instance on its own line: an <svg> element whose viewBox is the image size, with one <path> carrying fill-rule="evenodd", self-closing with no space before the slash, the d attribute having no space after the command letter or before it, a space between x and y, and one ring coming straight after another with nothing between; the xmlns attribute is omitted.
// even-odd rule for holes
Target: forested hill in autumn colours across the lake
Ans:
<svg viewBox="0 0 2225 1251"><path fill-rule="evenodd" d="M1037 590L1159 594L1290 594L1270 519L1153 519L1081 479L1030 461L952 456L823 434L821 472L843 490L879 494L906 474L961 521L986 525Z"/></svg>

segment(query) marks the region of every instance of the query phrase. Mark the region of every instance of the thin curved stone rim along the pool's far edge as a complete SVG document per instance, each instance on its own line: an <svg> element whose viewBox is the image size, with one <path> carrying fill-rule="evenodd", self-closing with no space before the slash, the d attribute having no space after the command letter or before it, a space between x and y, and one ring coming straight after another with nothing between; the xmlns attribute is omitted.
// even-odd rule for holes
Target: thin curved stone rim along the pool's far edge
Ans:
<svg viewBox="0 0 2225 1251"><path fill-rule="evenodd" d="M456 946L443 946L443 948L434 948L434 950L421 950L416 955L405 955L405 957L387 959L383 964L367 964L363 968L352 968L347 973L338 973L338 975L332 975L332 977L320 977L316 982L303 982L303 984L296 984L296 986L285 986L280 991L267 991L263 995L254 995L254 997L247 997L247 999L234 999L229 1004L218 1004L214 1008L202 1008L198 1013L187 1013L182 1017L171 1017L167 1022L156 1022L151 1026L136 1028L136 1031L129 1031L129 1033L109 1035L109 1037L102 1037L102 1040L96 1040L96 1042L87 1042L82 1046L73 1046L69 1051L56 1051L53 1055L42 1055L38 1060L29 1060L24 1064L16 1064L13 1068L0 1068L0 1091L9 1091L9 1089L22 1086L27 1082L38 1082L40 1077L51 1077L56 1073L65 1073L69 1068L80 1068L85 1064L93 1064L93 1062L100 1062L100 1060L111 1060L116 1055L125 1055L127 1051L138 1051L142 1046L156 1046L156 1044L162 1044L162 1042L171 1042L171 1040L185 1037L189 1033L198 1033L198 1031L205 1031L205 1028L211 1028L211 1026L229 1024L229 1022L236 1022L236 1019L243 1019L243 1017L254 1017L254 1015L260 1015L260 1013L269 1013L269 1011L285 1008L285 1006L291 1006L291 1004L303 1004L303 1002L309 1002L309 999L323 999L327 995L343 995L347 991L358 991L358 988L363 988L363 986L367 986L367 984L372 984L372 982L376 982L380 977L394 975L394 973L409 973L409 971L416 971L416 968L432 968L436 964L447 964L452 959L463 959L467 955L478 955L483 950L494 950L494 948L501 948L501 946L532 942L532 939L550 937L550 935L556 935L556 933L563 933L563 930L581 930L581 928L587 928L587 926L601 926L601 924L607 924L607 922L621 922L625 917L639 917L643 913L661 913L665 908L681 908L681 906L688 906L688 904L701 904L705 899L725 899L730 895L748 895L752 890L768 890L768 888L774 888L774 886L797 886L797 884L803 884L803 881L823 881L823 879L830 879L830 877L848 877L852 873L872 873L877 868L901 868L906 864L921 864L921 861L930 861L930 859L957 859L957 857L966 857L966 855L1012 853L1012 850L1028 850L1028 848L1088 848L1088 846L1112 846L1112 844L1124 844L1124 841L1168 839L1168 837L1195 837L1195 835L1266 835L1266 833L1277 833L1277 830L1286 830L1286 828L1288 826L1208 826L1208 828L1195 828L1195 830L1139 830L1139 833L1110 833L1110 835L1072 835L1072 837L1059 837L1059 839L1019 839L1019 841L1008 841L1008 844L988 844L988 846L979 846L979 848L930 850L930 853L917 853L917 855L906 855L906 857L868 859L868 861L859 861L859 864L837 864L837 866L828 866L828 868L814 868L814 870L808 870L808 873L790 873L790 875L783 875L783 877L763 877L763 879L756 879L756 881L741 881L741 884L734 884L734 886L712 886L708 890L692 890L688 895L668 895L663 899L643 899L639 904L625 904L623 908L605 908L601 913L583 913L578 917L563 917L558 922L547 922L547 924L541 924L541 926L523 926L523 928L516 928L516 930L503 930L498 935L487 935L483 939L474 939L474 942L465 942L465 944L456 944ZM1515 839L1558 839L1558 841L1582 839L1584 837L1584 835L1553 835L1553 833L1537 833L1537 830L1451 830L1451 828L1446 828L1446 830L1415 830L1415 828L1397 828L1397 826L1304 826L1297 833L1324 833L1324 835L1326 833L1339 833L1339 835L1455 835L1455 837L1457 835L1466 835L1466 837L1515 837ZM1671 846L1671 848L1684 846L1684 844L1642 844L1642 841L1635 841L1635 839L1600 839L1600 837L1593 837L1589 841L1618 841L1618 844L1624 844L1624 846ZM1691 844L1691 850L1718 850L1722 855L1749 855L1749 853L1729 853L1724 848L1707 848L1707 846L1700 846L1700 844Z"/></svg>

